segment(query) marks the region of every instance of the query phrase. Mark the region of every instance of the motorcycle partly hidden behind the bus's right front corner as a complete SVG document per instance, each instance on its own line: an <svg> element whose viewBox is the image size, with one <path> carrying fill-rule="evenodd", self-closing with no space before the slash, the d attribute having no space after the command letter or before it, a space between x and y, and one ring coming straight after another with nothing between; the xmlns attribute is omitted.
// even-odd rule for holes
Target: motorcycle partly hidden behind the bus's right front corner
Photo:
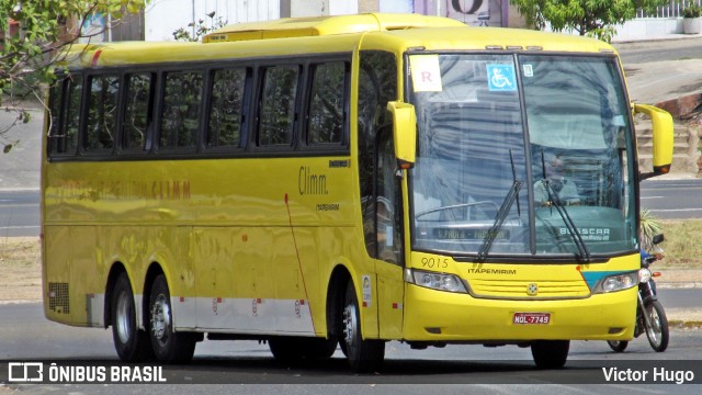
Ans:
<svg viewBox="0 0 702 395"><path fill-rule="evenodd" d="M663 252L663 249L657 245L664 241L664 236L656 235L652 241L656 251L652 255L642 253L641 269L638 270L638 303L634 338L646 332L650 347L656 352L663 352L668 348L668 318L656 294L654 278L659 276L660 273L652 272L650 264L658 260ZM629 346L629 341L608 340L607 342L615 352L622 352Z"/></svg>

